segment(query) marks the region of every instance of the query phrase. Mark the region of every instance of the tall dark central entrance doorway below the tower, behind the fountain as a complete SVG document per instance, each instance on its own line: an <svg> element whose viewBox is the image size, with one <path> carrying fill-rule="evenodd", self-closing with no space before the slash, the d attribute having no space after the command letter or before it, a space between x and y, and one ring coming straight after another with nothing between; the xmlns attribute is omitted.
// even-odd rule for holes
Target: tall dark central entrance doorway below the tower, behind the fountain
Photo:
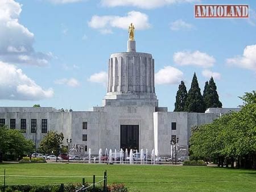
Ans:
<svg viewBox="0 0 256 192"><path fill-rule="evenodd" d="M121 144L120 147L125 149L139 150L139 126L138 125L121 125Z"/></svg>

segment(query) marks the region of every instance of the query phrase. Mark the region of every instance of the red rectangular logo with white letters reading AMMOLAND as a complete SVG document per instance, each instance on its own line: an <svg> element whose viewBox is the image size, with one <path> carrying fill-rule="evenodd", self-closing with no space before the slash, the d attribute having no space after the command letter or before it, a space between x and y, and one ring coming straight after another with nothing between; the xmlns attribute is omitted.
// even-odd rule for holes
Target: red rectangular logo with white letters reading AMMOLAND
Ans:
<svg viewBox="0 0 256 192"><path fill-rule="evenodd" d="M195 5L195 18L249 18L249 5Z"/></svg>

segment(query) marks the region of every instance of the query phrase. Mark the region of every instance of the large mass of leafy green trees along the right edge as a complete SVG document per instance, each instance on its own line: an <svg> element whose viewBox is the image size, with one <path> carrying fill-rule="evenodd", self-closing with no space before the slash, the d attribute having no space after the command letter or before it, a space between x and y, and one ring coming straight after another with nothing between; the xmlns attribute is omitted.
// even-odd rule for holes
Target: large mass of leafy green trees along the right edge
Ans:
<svg viewBox="0 0 256 192"><path fill-rule="evenodd" d="M256 169L256 92L246 93L244 106L192 129L189 141L192 158L214 158L219 165Z"/></svg>

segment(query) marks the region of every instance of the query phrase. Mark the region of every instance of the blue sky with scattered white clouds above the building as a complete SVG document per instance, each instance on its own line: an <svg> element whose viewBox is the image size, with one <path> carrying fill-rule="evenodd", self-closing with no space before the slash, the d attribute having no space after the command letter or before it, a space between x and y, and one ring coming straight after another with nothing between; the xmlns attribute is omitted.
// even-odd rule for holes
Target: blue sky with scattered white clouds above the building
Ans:
<svg viewBox="0 0 256 192"><path fill-rule="evenodd" d="M135 25L138 52L155 59L159 106L174 110L177 87L214 77L223 107L255 90L256 3L249 19L196 19L193 0L1 0L0 106L87 111L106 94L110 54L125 52ZM230 1L200 1L230 4Z"/></svg>

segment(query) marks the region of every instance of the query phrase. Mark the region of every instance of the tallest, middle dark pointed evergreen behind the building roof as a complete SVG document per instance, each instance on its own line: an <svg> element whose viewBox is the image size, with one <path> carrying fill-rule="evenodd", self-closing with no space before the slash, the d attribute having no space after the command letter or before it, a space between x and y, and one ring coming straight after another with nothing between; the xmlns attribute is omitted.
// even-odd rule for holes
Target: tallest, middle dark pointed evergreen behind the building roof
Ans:
<svg viewBox="0 0 256 192"><path fill-rule="evenodd" d="M196 73L194 73L191 88L188 91L188 98L185 102L185 111L204 112L204 100L197 82Z"/></svg>

